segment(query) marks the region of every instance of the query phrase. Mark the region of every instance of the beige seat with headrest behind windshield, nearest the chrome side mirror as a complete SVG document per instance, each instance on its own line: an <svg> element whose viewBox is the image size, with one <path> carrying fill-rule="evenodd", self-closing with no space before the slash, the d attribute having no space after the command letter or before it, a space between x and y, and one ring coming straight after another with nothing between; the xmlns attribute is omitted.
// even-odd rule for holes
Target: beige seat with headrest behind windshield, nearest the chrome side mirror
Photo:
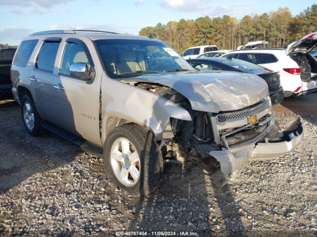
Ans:
<svg viewBox="0 0 317 237"><path fill-rule="evenodd" d="M117 65L117 73L129 73L142 70L137 63L137 55L133 51L121 53L119 63Z"/></svg>

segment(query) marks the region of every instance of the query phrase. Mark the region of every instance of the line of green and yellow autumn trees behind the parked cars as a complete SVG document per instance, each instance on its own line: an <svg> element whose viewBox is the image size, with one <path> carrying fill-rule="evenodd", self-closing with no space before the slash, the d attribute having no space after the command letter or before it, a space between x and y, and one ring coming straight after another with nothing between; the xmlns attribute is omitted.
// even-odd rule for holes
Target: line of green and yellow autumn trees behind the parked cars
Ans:
<svg viewBox="0 0 317 237"><path fill-rule="evenodd" d="M317 4L292 16L288 7L278 8L269 14L246 15L238 20L223 15L196 20L181 19L166 25L142 28L141 36L152 36L166 42L182 53L186 48L215 44L221 49L236 49L249 41L266 40L273 47L284 47L311 32L317 31Z"/></svg>

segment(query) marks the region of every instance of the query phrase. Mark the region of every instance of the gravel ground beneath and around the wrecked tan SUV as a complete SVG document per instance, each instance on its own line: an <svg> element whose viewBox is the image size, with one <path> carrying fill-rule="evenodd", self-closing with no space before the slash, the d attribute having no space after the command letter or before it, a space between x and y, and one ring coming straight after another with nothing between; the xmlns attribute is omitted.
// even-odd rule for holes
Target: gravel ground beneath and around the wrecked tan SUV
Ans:
<svg viewBox="0 0 317 237"><path fill-rule="evenodd" d="M27 135L19 106L0 101L0 236L113 236L192 230L200 236L317 235L317 94L273 108L285 127L300 115L292 153L252 162L214 186L199 166L166 165L160 188L136 199L108 182L103 161L47 133Z"/></svg>

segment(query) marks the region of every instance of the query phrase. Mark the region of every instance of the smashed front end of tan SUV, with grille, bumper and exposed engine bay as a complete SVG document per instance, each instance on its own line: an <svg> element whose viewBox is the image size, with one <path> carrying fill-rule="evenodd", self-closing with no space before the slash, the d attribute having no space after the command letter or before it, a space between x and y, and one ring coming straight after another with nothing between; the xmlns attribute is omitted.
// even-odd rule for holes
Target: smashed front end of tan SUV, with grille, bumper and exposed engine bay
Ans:
<svg viewBox="0 0 317 237"><path fill-rule="evenodd" d="M212 113L193 109L190 97L157 81L128 83L186 109L192 118L170 118L167 128L172 136L159 139L165 162L175 160L175 147L181 146L188 154L186 161L198 161L211 174L220 170L221 185L233 180L248 161L277 158L297 147L303 138L301 118L279 131L268 96L243 109Z"/></svg>

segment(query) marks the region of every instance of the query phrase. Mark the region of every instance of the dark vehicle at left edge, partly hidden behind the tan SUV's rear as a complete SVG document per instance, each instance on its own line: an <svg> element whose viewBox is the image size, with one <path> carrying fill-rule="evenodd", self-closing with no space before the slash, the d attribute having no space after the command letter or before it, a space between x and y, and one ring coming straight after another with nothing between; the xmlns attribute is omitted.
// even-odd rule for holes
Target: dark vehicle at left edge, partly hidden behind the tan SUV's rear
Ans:
<svg viewBox="0 0 317 237"><path fill-rule="evenodd" d="M10 70L16 48L0 48L0 97L11 94Z"/></svg>

